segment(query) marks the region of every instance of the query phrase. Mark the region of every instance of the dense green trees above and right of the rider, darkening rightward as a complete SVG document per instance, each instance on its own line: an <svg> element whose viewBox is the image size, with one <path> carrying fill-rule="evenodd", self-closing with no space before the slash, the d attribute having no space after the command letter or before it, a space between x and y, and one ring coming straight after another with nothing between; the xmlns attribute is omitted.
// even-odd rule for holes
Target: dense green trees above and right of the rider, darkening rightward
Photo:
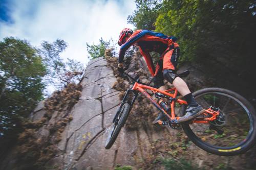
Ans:
<svg viewBox="0 0 256 170"><path fill-rule="evenodd" d="M136 10L127 21L137 29L156 28L156 32L178 37L181 62L222 65L247 80L256 76L255 64L250 62L256 55L255 1L135 2Z"/></svg>

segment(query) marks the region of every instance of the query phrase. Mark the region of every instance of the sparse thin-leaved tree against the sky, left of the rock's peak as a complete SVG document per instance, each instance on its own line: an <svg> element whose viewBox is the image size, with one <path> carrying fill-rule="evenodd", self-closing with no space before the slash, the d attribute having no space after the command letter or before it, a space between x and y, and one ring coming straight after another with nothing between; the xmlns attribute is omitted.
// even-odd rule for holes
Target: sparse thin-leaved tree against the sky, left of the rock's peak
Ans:
<svg viewBox="0 0 256 170"><path fill-rule="evenodd" d="M78 83L83 74L83 64L69 58L64 61L60 57L67 46L65 41L57 39L53 43L43 41L38 49L48 70L45 80L48 85L54 85L58 89L72 82Z"/></svg>

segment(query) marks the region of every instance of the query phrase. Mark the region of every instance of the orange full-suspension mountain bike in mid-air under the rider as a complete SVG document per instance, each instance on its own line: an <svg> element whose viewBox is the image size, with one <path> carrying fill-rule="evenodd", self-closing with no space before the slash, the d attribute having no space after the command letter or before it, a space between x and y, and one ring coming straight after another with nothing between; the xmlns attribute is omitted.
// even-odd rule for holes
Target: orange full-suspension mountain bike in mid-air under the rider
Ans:
<svg viewBox="0 0 256 170"><path fill-rule="evenodd" d="M132 83L121 101L113 125L105 142L105 149L110 149L115 142L121 128L139 93L145 97L167 117L166 121L159 120L158 124L167 125L173 129L182 128L185 134L201 149L216 155L232 156L245 153L255 143L256 113L253 106L240 94L223 88L204 88L193 93L195 100L204 108L203 114L180 122L175 113L175 107L180 105L180 115L185 114L186 101L178 96L175 87L159 90L139 79L123 73ZM189 71L179 74L186 77ZM147 92L151 91L157 99L168 100L170 112L166 112L156 100ZM132 96L132 98L131 98Z"/></svg>

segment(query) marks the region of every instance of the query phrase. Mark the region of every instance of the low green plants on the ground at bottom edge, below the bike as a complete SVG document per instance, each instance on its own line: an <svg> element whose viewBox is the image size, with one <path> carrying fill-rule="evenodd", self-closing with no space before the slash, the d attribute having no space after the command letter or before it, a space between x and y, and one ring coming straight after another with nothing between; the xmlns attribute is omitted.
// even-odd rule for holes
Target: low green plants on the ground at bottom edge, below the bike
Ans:
<svg viewBox="0 0 256 170"><path fill-rule="evenodd" d="M191 164L185 159L175 160L173 158L166 158L162 160L162 164L164 165L166 170L198 170L202 169L197 166Z"/></svg>

